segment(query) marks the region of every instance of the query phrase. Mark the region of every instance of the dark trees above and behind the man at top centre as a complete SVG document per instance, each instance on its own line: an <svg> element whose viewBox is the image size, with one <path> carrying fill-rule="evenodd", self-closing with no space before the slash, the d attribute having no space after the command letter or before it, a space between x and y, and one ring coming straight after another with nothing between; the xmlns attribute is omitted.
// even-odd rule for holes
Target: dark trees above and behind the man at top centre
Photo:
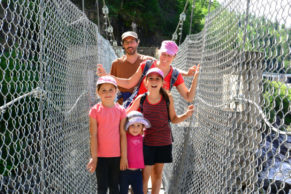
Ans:
<svg viewBox="0 0 291 194"><path fill-rule="evenodd" d="M81 0L73 0L81 8ZM189 34L191 4L186 9L186 21L183 25L183 38ZM143 46L159 46L165 39L171 39L179 22L179 15L184 10L186 0L107 0L109 17L114 29L115 38L120 41L124 31L131 30L132 22L137 24L137 30ZM86 0L85 8L92 10L96 6L96 0ZM211 10L218 6L217 1L212 2ZM101 25L103 2L99 0L99 13ZM203 29L204 18L208 14L208 1L196 0L192 17L192 33L198 33ZM97 21L97 20L96 20Z"/></svg>

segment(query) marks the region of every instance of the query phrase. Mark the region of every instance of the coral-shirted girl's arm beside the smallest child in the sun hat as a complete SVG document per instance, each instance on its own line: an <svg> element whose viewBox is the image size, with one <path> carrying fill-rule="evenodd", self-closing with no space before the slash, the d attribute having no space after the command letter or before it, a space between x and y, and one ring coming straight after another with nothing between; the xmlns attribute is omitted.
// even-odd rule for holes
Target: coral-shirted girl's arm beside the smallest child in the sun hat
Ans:
<svg viewBox="0 0 291 194"><path fill-rule="evenodd" d="M126 132L124 129L126 118L123 118L120 122L120 148L121 148L121 158L120 158L120 170L126 170L128 167L127 162L127 140Z"/></svg>

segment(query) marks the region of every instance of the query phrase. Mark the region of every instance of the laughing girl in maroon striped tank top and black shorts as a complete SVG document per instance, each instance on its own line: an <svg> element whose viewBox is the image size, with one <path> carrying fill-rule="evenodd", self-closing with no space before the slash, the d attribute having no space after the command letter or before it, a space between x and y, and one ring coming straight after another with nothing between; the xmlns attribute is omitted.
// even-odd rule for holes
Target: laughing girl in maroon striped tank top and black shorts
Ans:
<svg viewBox="0 0 291 194"><path fill-rule="evenodd" d="M181 115L177 115L174 101L170 93L163 89L164 74L159 68L152 68L146 74L147 95L142 100L142 112L151 123L151 127L144 134L144 161L143 192L147 193L147 185L150 176L152 181L152 193L160 190L162 183L162 171L164 163L172 162L172 138L170 121L179 123L190 117L193 113L193 105ZM138 96L127 112L138 110L141 99ZM168 104L168 105L167 105ZM154 188L155 186L155 188Z"/></svg>

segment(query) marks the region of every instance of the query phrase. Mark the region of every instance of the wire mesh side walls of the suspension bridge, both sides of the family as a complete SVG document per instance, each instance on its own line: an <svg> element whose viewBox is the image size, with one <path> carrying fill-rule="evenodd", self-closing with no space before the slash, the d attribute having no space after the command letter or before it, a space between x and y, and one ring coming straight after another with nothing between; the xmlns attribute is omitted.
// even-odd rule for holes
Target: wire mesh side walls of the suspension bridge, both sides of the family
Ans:
<svg viewBox="0 0 291 194"><path fill-rule="evenodd" d="M0 18L0 193L96 193L96 64L122 52L68 0L0 1ZM291 72L290 21L287 0L226 0L180 44L173 66L201 73L166 193L291 193L291 88L263 76Z"/></svg>

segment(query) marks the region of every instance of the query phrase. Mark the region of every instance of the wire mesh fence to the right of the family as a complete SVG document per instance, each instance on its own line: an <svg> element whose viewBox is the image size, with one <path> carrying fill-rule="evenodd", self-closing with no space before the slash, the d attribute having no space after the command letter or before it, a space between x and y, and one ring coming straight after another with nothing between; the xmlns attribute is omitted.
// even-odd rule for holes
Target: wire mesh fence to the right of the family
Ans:
<svg viewBox="0 0 291 194"><path fill-rule="evenodd" d="M291 193L290 61L287 0L224 1L185 39L174 66L201 73L193 118L172 126L168 193Z"/></svg>

